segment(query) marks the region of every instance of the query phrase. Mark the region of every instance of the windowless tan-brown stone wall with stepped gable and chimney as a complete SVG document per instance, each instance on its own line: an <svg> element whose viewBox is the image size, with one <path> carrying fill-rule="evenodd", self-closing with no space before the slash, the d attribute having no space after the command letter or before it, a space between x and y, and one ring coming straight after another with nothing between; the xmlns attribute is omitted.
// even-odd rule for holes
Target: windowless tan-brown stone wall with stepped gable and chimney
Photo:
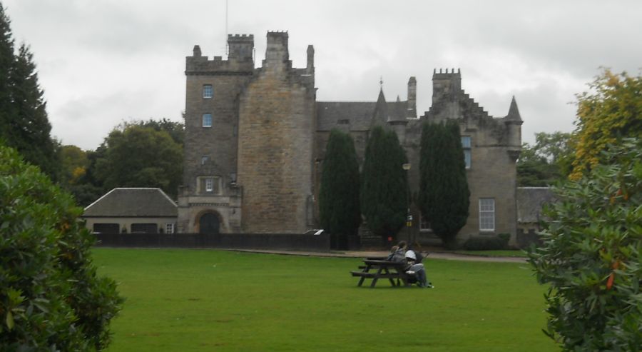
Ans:
<svg viewBox="0 0 642 352"><path fill-rule="evenodd" d="M267 44L267 59L239 102L242 228L251 233L302 233L313 225L313 78L292 69L287 34L270 32Z"/></svg>

